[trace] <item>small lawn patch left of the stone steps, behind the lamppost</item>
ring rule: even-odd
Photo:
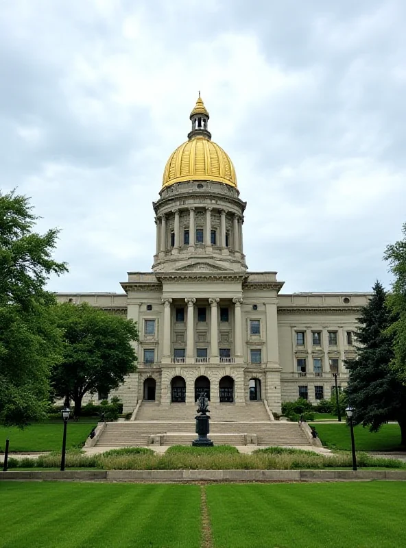
[[[84,442],[96,423],[71,422],[67,427],[67,448]],[[63,423],[39,423],[20,429],[0,427],[0,450],[4,451],[6,438],[10,451],[58,451],[62,447]]]

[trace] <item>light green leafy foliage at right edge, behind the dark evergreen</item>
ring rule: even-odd
[[[388,296],[387,304],[396,314],[396,321],[391,327],[394,337],[394,358],[392,366],[401,382],[406,385],[406,223],[403,225],[403,240],[388,245],[385,251],[385,260],[390,264],[390,271],[394,275],[392,292]]]

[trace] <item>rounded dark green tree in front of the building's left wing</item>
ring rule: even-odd
[[[74,401],[78,417],[86,393],[114,390],[135,370],[132,341],[138,340],[138,330],[132,320],[87,303],[60,304],[56,318],[64,351],[62,362],[53,369],[53,390],[57,397]]]

